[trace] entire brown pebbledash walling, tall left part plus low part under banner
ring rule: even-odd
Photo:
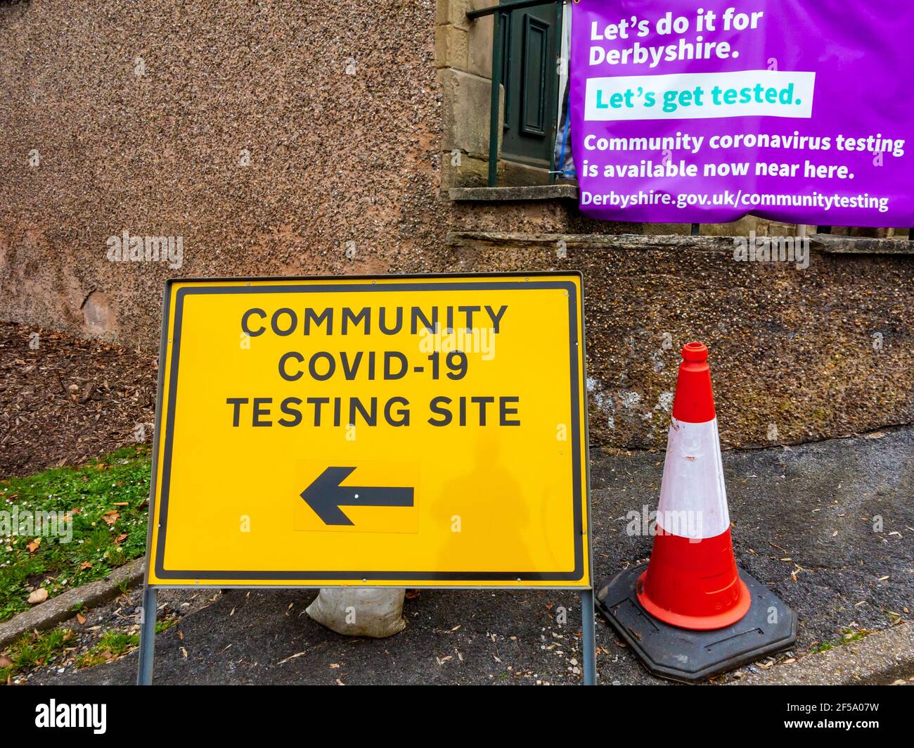
[[[664,445],[694,338],[726,445],[914,420],[904,242],[798,270],[622,238],[687,227],[567,199],[452,199],[484,184],[488,40],[464,11],[488,4],[0,2],[0,318],[152,348],[169,276],[572,268],[595,445]],[[749,228],[795,230],[705,231]],[[171,238],[171,262],[110,261],[125,232]]]

